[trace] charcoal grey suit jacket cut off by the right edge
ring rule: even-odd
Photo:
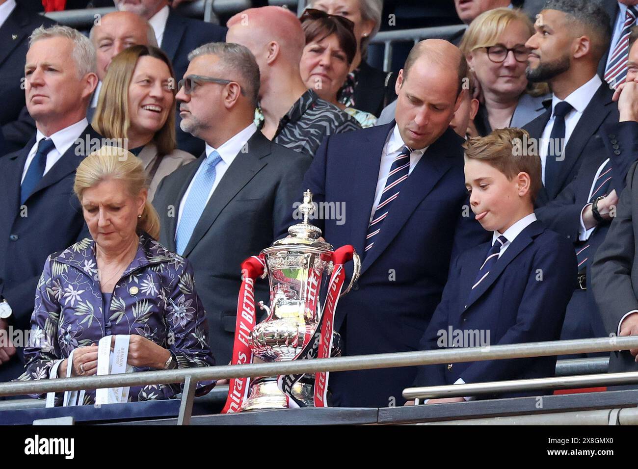
[[[618,333],[621,318],[638,309],[638,163],[627,174],[616,218],[611,223],[591,265],[591,283],[600,315],[608,334]],[[628,352],[611,352],[609,372],[638,371],[638,364]],[[635,385],[632,385],[635,387]]]

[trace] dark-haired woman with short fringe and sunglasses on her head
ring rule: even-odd
[[[299,63],[301,79],[322,100],[352,115],[363,128],[375,125],[375,115],[346,107],[338,100],[357,50],[352,21],[311,8],[304,11],[300,20],[306,36]]]

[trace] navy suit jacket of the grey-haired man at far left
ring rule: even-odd
[[[101,137],[87,126],[80,138]],[[86,156],[84,144],[71,145],[27,198],[26,208],[20,208],[20,179],[34,143],[35,137],[24,149],[0,158],[0,295],[13,309],[14,327],[22,330],[30,329],[36,286],[47,256],[88,234],[73,193],[75,169]]]

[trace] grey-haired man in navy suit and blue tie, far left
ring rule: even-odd
[[[29,329],[45,259],[83,237],[73,180],[82,158],[100,142],[85,118],[98,82],[95,68],[91,42],[75,29],[33,32],[25,94],[38,131],[24,149],[0,158],[0,301],[12,310],[0,320],[2,329]],[[21,355],[19,348],[0,365],[0,381],[22,373]]]

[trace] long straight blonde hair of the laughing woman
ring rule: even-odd
[[[128,110],[128,89],[131,86],[133,72],[140,57],[149,56],[163,61],[171,77],[175,77],[173,67],[166,54],[152,45],[134,45],[128,47],[108,66],[104,77],[98,106],[93,117],[93,128],[106,138],[128,138],[131,117]],[[175,96],[175,89],[173,90]],[[172,153],[175,144],[175,103],[170,105],[168,117],[161,129],[156,131],[153,140],[161,156]]]

